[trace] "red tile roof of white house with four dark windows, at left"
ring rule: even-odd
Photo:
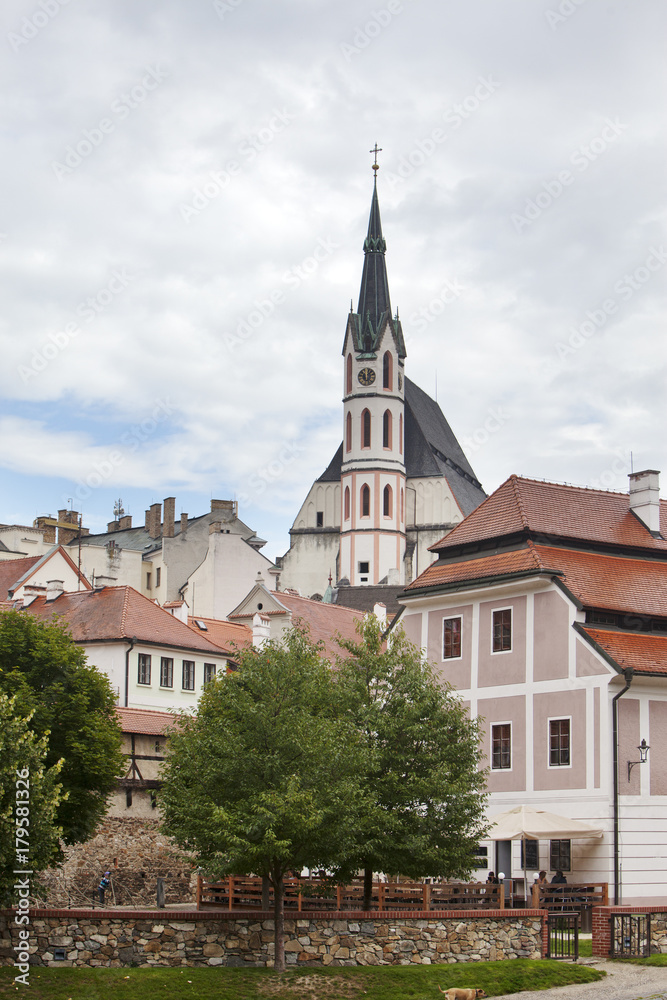
[[[100,590],[61,594],[53,601],[37,597],[26,612],[41,618],[62,617],[75,642],[103,642],[133,637],[139,642],[224,654],[201,632],[194,632],[154,604],[134,587],[102,587]]]

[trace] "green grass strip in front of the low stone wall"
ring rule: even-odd
[[[657,956],[660,957],[660,956]],[[662,956],[665,957],[665,956]],[[473,986],[489,996],[589,983],[603,973],[571,962],[469,962],[460,965],[385,965],[372,968],[296,969],[45,969],[30,972],[30,988],[0,969],[0,998],[30,1000],[431,1000],[450,986]]]

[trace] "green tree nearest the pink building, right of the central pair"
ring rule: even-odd
[[[347,873],[364,870],[364,907],[373,872],[411,878],[468,877],[486,830],[479,726],[439,681],[402,629],[388,642],[378,619],[357,625],[359,641],[339,639],[341,711],[362,734],[370,803],[356,827]],[[342,872],[341,872],[342,874]]]

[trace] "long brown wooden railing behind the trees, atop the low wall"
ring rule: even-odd
[[[332,885],[320,879],[285,879],[285,907],[304,910],[361,910],[362,881]],[[217,882],[197,879],[197,909],[214,906],[225,910],[262,910],[262,880],[230,876]],[[270,907],[273,890],[270,890]],[[446,910],[504,909],[505,888],[486,882],[374,882],[371,909]]]

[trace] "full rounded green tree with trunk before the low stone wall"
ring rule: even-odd
[[[243,650],[172,730],[162,771],[164,829],[212,878],[260,875],[274,891],[275,968],[285,966],[284,878],[342,863],[361,811],[363,748],[334,714],[321,649],[299,629]]]

